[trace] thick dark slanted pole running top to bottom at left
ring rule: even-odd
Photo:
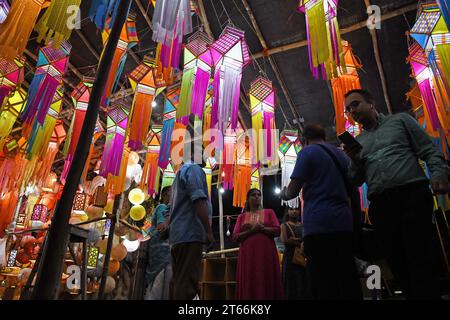
[[[111,30],[102,59],[100,60],[97,78],[95,79],[92,94],[89,99],[86,118],[80,134],[72,165],[67,176],[61,199],[57,204],[53,221],[49,230],[47,252],[43,256],[42,264],[45,268],[36,282],[36,299],[56,299],[60,284],[60,278],[64,266],[64,254],[67,247],[67,235],[69,233],[69,219],[72,211],[73,199],[78,188],[84,164],[87,160],[91,141],[97,122],[100,101],[105,89],[106,80],[110,71],[115,49],[119,42],[122,27],[127,19],[128,8],[131,0],[120,0],[117,17]]]

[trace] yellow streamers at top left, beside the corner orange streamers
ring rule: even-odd
[[[71,8],[80,10],[81,0],[52,1],[42,18],[36,24],[35,30],[39,33],[38,42],[42,40],[48,44],[51,40],[54,48],[60,48],[64,40],[69,40],[72,30],[69,22],[72,21]],[[79,11],[77,11],[79,13]],[[76,19],[78,18],[76,15]],[[76,25],[76,21],[74,21]]]

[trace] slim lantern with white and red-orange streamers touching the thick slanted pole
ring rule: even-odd
[[[70,123],[69,132],[67,133],[67,139],[64,145],[66,162],[64,164],[64,170],[61,174],[61,181],[63,182],[69,173],[70,165],[78,145],[78,139],[81,134],[84,117],[86,116],[86,110],[88,107],[89,98],[91,96],[92,85],[93,79],[84,78],[84,80],[78,84],[71,94],[72,101],[75,105],[75,112],[73,113],[72,122]]]

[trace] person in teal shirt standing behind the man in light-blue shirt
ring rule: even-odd
[[[146,300],[167,300],[169,298],[169,283],[172,278],[170,246],[167,239],[160,237],[160,230],[164,228],[167,220],[165,212],[168,209],[171,194],[171,186],[161,190],[161,203],[156,206],[151,218],[150,233],[152,237],[148,246]]]

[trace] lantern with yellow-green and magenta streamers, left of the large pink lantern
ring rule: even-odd
[[[177,109],[177,119],[184,124],[189,122],[191,113],[202,119],[211,68],[214,64],[209,48],[212,42],[207,34],[198,31],[188,39],[184,48],[183,80],[180,105]]]

